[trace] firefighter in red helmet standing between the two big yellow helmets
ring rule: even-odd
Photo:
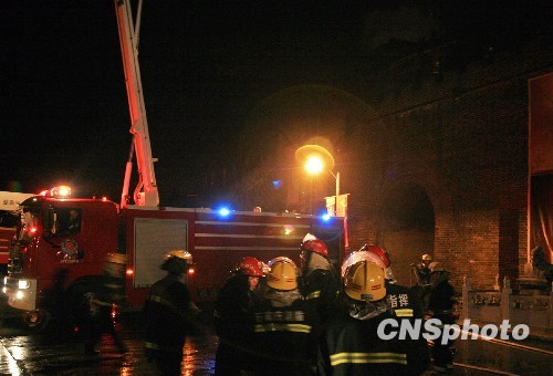
[[[340,281],[328,261],[325,242],[309,236],[300,246],[301,292],[325,322],[336,307]]]

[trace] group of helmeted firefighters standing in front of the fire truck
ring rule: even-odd
[[[373,244],[352,252],[337,271],[326,243],[306,234],[299,260],[237,260],[213,310],[216,375],[452,373],[451,342],[379,335],[386,320],[455,323],[449,272],[430,254],[411,264],[415,286],[398,284],[389,253]],[[167,275],[146,300],[146,355],[163,375],[181,374],[186,337],[202,333],[187,288],[192,264],[185,250],[167,253],[160,267]]]

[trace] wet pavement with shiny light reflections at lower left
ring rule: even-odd
[[[0,375],[157,375],[145,357],[138,321],[117,324],[128,351],[121,354],[109,335],[104,335],[98,355],[85,355],[77,333],[25,334],[22,328],[0,340]],[[3,334],[2,333],[2,334]],[[206,334],[188,338],[182,375],[212,375],[217,337]]]

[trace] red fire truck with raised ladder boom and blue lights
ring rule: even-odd
[[[242,257],[267,262],[285,255],[298,261],[298,247],[306,233],[327,242],[331,259],[340,262],[346,241],[342,217],[159,206],[137,30],[129,1],[114,2],[134,150],[126,164],[121,203],[106,198],[73,198],[67,186],[21,202],[21,222],[10,248],[3,292],[9,305],[21,310],[25,325],[41,331],[52,316],[65,313],[62,303],[90,304],[97,294],[107,253],[126,255],[127,310],[142,309],[149,286],[165,275],[159,269],[163,255],[175,249],[192,253],[196,265],[189,270],[188,285],[197,304],[207,310]],[[133,155],[138,185],[131,198]]]

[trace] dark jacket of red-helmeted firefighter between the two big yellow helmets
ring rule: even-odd
[[[338,280],[331,270],[315,269],[302,278],[302,294],[316,307],[323,322],[326,322],[337,307],[338,289]]]

